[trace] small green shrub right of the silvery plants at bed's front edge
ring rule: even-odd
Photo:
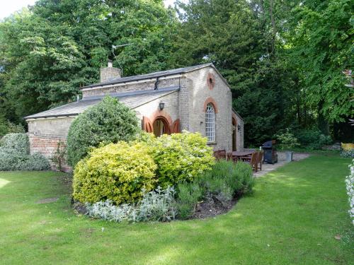
[[[204,196],[205,190],[195,182],[183,182],[178,184],[178,216],[181,219],[189,218],[195,211],[198,201]]]

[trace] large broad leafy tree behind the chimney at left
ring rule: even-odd
[[[162,1],[39,0],[0,23],[1,90],[21,118],[65,104],[98,81],[111,45],[127,42],[115,51],[124,72],[164,69],[173,23]]]

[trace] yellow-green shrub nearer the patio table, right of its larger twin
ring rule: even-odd
[[[152,155],[157,165],[156,176],[163,188],[195,177],[210,170],[215,163],[212,148],[200,133],[164,134],[158,138],[145,136],[152,146]]]

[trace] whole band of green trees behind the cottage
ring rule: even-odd
[[[353,89],[342,72],[353,69],[353,7],[350,0],[190,0],[174,8],[161,0],[39,0],[0,23],[0,121],[23,122],[74,100],[107,59],[124,76],[212,62],[232,88],[247,145],[286,128],[350,141]]]

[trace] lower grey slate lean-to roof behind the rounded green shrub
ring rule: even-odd
[[[120,102],[124,103],[127,107],[134,109],[140,105],[144,105],[147,102],[161,98],[164,95],[173,93],[179,90],[178,86],[171,88],[159,88],[159,90],[139,90],[132,91],[130,93],[115,93],[110,94],[115,98],[119,98]],[[102,100],[104,96],[96,96],[87,99],[80,100],[78,102],[72,102],[67,105],[62,105],[55,107],[51,110],[46,110],[37,114],[33,114],[25,117],[25,119],[38,119],[38,118],[49,118],[49,117],[64,117],[64,116],[74,116],[84,112],[88,107],[96,105]]]

